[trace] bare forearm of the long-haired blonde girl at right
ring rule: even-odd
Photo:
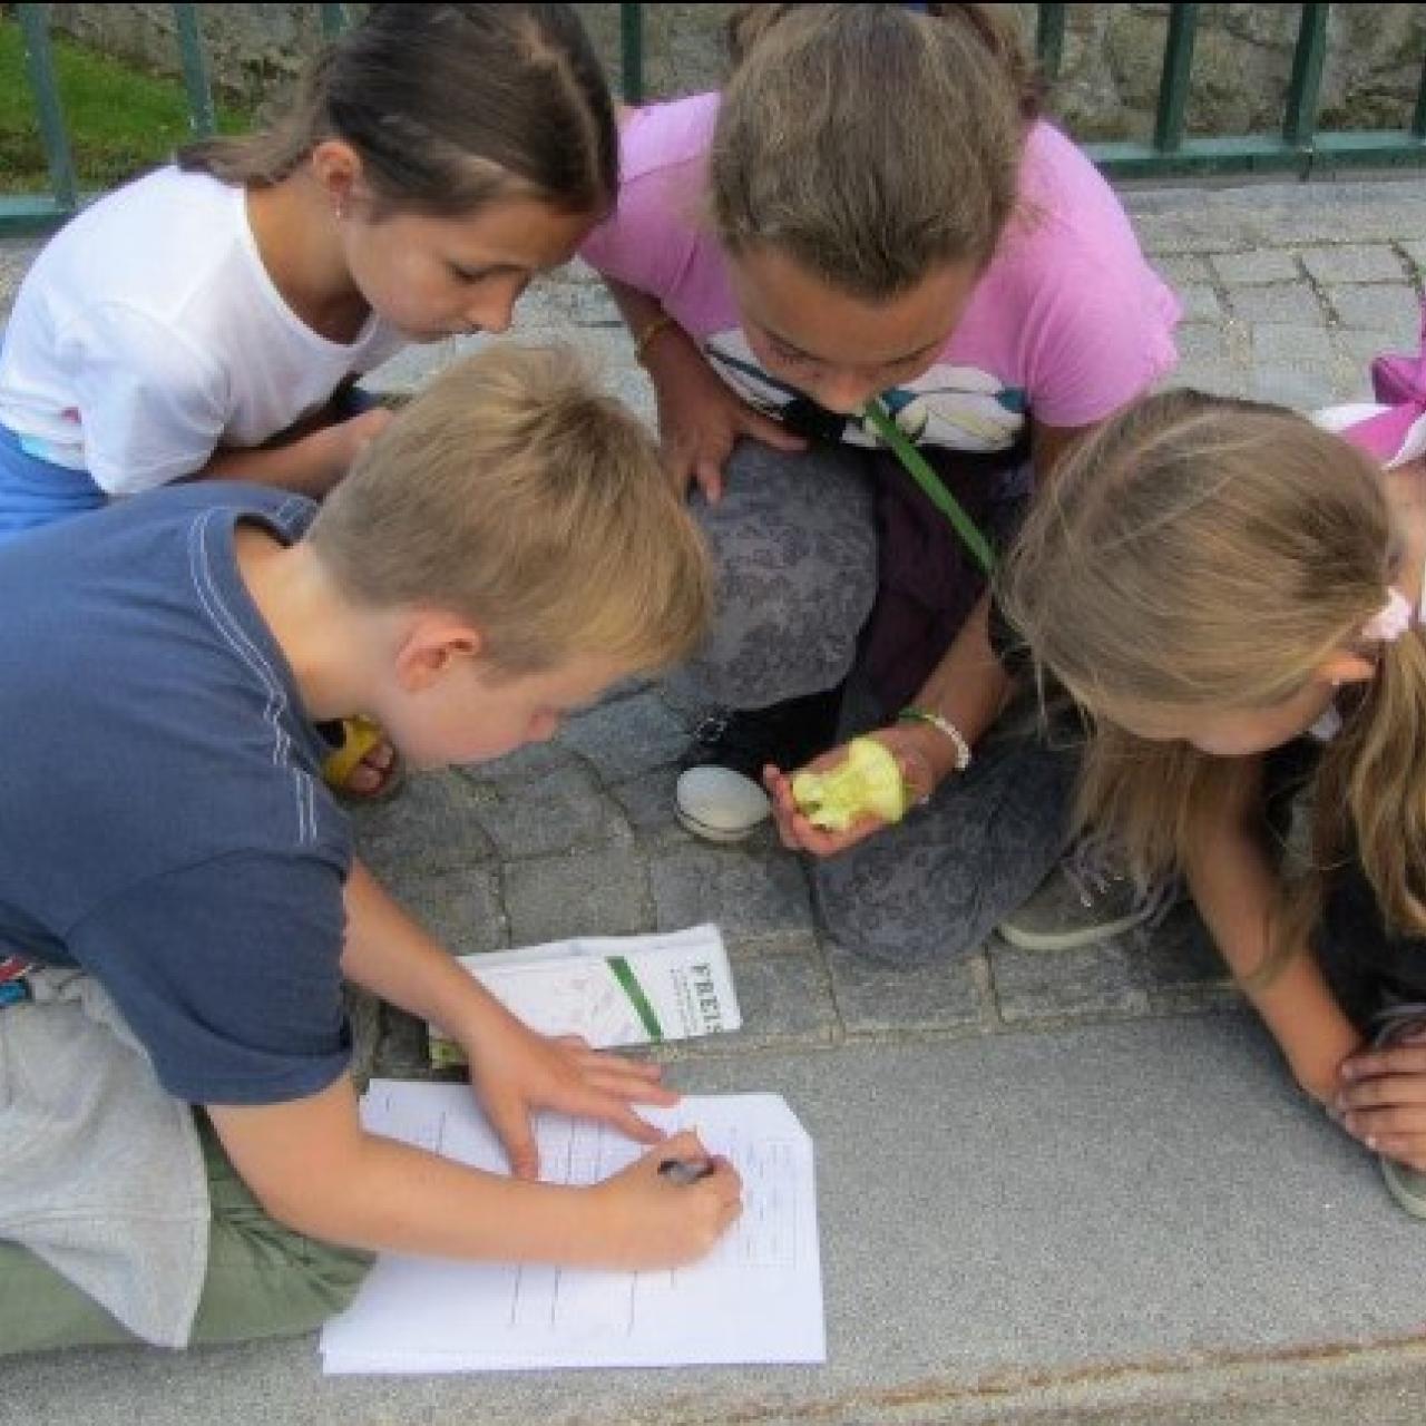
[[[1194,838],[1188,883],[1224,960],[1308,1094],[1329,1099],[1338,1088],[1338,1067],[1360,1035],[1328,988],[1316,957],[1305,945],[1275,973],[1259,974],[1271,943],[1271,914],[1278,877],[1255,829],[1261,806],[1258,763],[1239,784],[1232,803]]]

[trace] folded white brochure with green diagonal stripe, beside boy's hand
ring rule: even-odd
[[[600,1050],[714,1035],[743,1024],[716,925],[579,937],[459,960],[532,1028],[583,1035]],[[465,1064],[461,1047],[434,1025],[429,1040],[432,1064]]]

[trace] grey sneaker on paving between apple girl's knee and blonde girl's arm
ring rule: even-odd
[[[1158,924],[1181,896],[1178,878],[1142,888],[1108,853],[1108,838],[1081,837],[995,928],[1001,938],[1024,951],[1072,951]]]

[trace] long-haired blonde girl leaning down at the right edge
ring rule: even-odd
[[[1415,372],[1415,392],[1379,382],[1392,405],[1348,441],[1271,406],[1144,401],[1067,458],[1001,593],[1088,712],[1079,817],[1141,876],[1185,871],[1299,1084],[1426,1216]],[[1303,784],[1310,850],[1288,840]]]

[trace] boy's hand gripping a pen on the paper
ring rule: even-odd
[[[713,1172],[696,1184],[676,1184],[659,1172],[670,1158],[707,1159]],[[609,1265],[629,1271],[697,1261],[743,1211],[737,1169],[710,1155],[692,1131],[665,1139],[589,1192],[597,1198],[593,1231],[609,1248]]]

